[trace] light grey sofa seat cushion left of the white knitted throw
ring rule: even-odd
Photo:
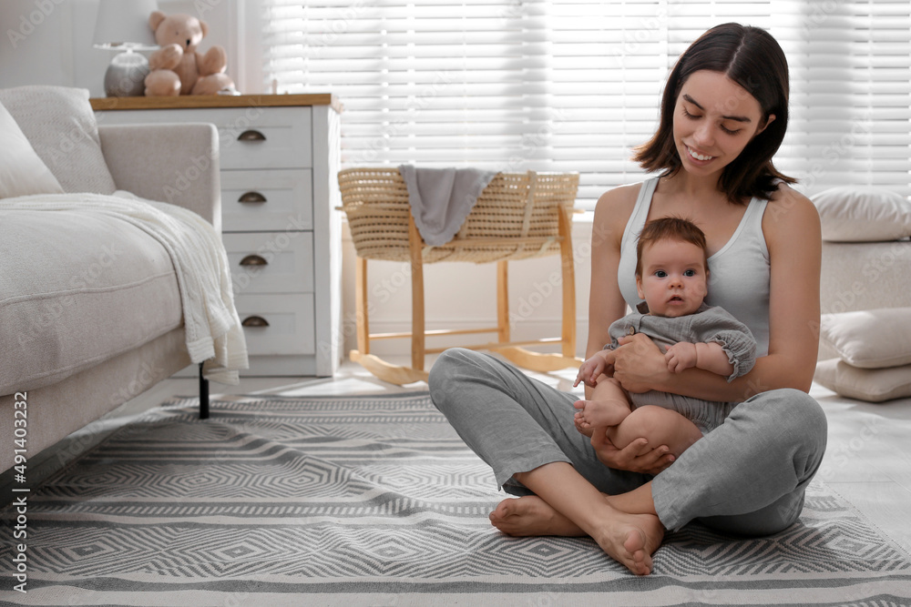
[[[0,394],[37,389],[182,324],[168,252],[100,214],[0,210]]]

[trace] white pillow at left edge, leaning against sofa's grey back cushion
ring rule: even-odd
[[[0,105],[0,198],[61,194],[63,188],[35,153],[13,116]]]

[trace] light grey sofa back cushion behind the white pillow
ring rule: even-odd
[[[0,104],[15,118],[65,192],[114,193],[114,178],[101,153],[87,89],[5,88],[0,89]]]

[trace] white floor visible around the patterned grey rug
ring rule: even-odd
[[[428,359],[429,364],[432,361]],[[575,369],[535,374],[558,389],[571,390]],[[282,394],[287,396],[371,394],[424,391],[426,384],[393,386],[375,379],[359,365],[345,362],[332,379],[245,378],[236,387],[210,384],[220,394]],[[577,391],[580,391],[577,389]],[[126,423],[172,396],[197,396],[196,379],[167,379],[135,400],[77,433],[46,455],[48,469],[78,455],[100,440],[105,430]],[[811,395],[829,420],[829,446],[820,478],[854,504],[885,535],[911,552],[911,399],[866,403],[839,397],[814,384]],[[30,468],[30,470],[32,470]],[[2,483],[0,483],[2,484]]]

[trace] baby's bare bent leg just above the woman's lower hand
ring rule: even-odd
[[[702,432],[677,411],[650,405],[637,408],[619,425],[608,429],[608,438],[618,449],[642,437],[652,447],[667,445],[674,457],[680,457],[702,438]]]

